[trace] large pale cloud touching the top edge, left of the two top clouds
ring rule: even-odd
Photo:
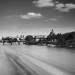
[[[53,7],[54,6],[54,2],[53,0],[37,0],[37,1],[33,1],[33,3],[38,6],[38,7]]]

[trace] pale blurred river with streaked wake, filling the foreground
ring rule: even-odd
[[[17,69],[14,75],[75,75],[74,49],[13,43],[1,45],[0,50],[13,70]]]

